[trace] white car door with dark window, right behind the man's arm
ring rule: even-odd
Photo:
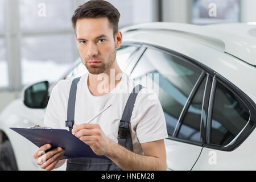
[[[184,57],[155,47],[144,51],[130,76],[154,90],[163,107],[168,169],[191,170],[205,140],[202,108],[211,76]]]

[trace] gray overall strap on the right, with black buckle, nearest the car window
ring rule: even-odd
[[[136,85],[126,102],[125,109],[123,110],[122,119],[119,123],[118,130],[118,144],[126,147],[130,151],[133,151],[133,141],[131,139],[131,133],[129,130],[129,123],[131,119],[131,113],[133,112],[134,103],[139,91],[144,88],[142,85]]]

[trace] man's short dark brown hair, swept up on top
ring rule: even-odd
[[[72,16],[73,29],[76,31],[76,22],[78,19],[102,17],[108,18],[115,35],[118,31],[120,13],[111,3],[103,0],[88,1],[84,5],[79,6]]]

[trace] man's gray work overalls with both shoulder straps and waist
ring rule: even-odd
[[[68,114],[65,126],[69,127],[69,131],[73,129],[74,117],[75,117],[75,103],[76,103],[76,88],[77,83],[81,77],[75,78],[72,81],[69,98],[68,98]],[[142,85],[136,85],[133,92],[126,102],[125,110],[123,111],[122,119],[119,122],[118,130],[118,144],[133,151],[133,141],[131,140],[131,134],[129,130],[129,123],[131,113],[133,111],[134,102],[138,92],[144,88]],[[67,171],[121,171],[112,160],[110,159],[98,159],[98,158],[72,158],[68,159]]]

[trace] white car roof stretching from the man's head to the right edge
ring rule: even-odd
[[[256,23],[197,26],[185,23],[152,22],[125,27],[121,29],[121,32],[136,30],[164,30],[179,33],[181,36],[196,37],[207,46],[228,53],[256,67]]]

